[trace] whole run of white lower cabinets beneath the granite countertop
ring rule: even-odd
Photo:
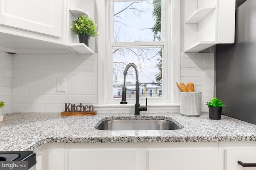
[[[256,170],[256,142],[49,143],[37,170]]]

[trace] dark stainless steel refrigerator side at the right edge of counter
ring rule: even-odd
[[[216,45],[216,96],[222,114],[256,124],[256,0],[236,9],[235,43]]]

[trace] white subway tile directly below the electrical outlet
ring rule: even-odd
[[[70,103],[71,96],[67,95],[40,95],[36,96],[36,103],[41,104],[64,104]]]

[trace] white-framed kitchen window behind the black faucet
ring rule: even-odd
[[[173,27],[173,9],[180,8],[180,1],[106,0],[105,2],[106,4],[102,6],[105,12],[100,19],[105,26],[105,29],[102,28],[102,33],[105,31],[106,34],[104,34],[105,37],[102,37],[103,42],[98,40],[99,81],[104,80],[105,85],[99,83],[98,92],[104,92],[104,98],[98,95],[99,104],[120,104],[121,96],[119,93],[116,96],[114,91],[119,87],[122,88],[123,72],[128,63],[134,63],[138,68],[140,98],[152,96],[148,101],[151,104],[172,103],[174,98],[171,85],[174,78],[172,75],[178,64],[174,65],[173,63],[175,53],[172,47],[174,45],[172,33],[174,30],[171,27]],[[99,4],[100,0],[98,0]],[[160,4],[160,9],[156,10],[156,7],[159,7],[156,4]],[[159,18],[154,15],[154,10],[161,13],[161,20],[157,21],[161,29],[156,32],[152,28]],[[176,20],[180,24],[179,10],[177,16]],[[100,23],[98,24],[99,28]],[[176,35],[178,37],[176,53],[179,54],[179,32]],[[106,46],[104,40],[107,42]],[[104,49],[99,48],[100,44],[102,47],[106,47],[107,55],[104,54]],[[102,70],[102,61],[106,63],[104,70]],[[130,68],[126,76],[126,86],[132,90],[134,82],[135,71]],[[104,87],[104,90],[101,87]],[[154,92],[149,93],[150,87]],[[134,95],[130,96],[131,98],[127,98],[128,104],[133,104],[135,102]],[[140,103],[143,103],[141,101],[144,100],[140,99]]]

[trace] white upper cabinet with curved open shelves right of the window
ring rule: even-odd
[[[234,43],[236,0],[184,0],[184,52]]]

